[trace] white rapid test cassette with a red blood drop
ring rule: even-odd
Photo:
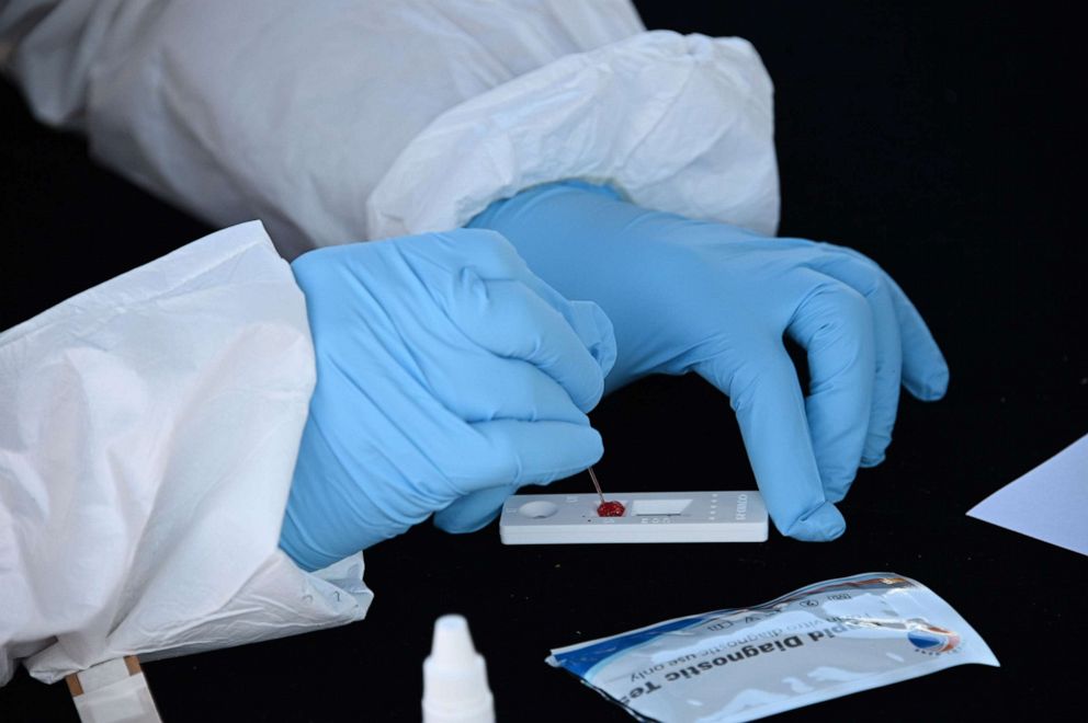
[[[499,519],[503,544],[763,542],[767,507],[755,491],[614,492],[619,517],[597,513],[594,494],[519,494]]]

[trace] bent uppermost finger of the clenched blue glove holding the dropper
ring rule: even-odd
[[[539,294],[521,282],[485,280],[473,268],[461,271],[454,294],[449,313],[472,342],[500,357],[532,364],[582,411],[601,400],[601,366],[563,314]],[[598,343],[614,348],[611,334],[611,324],[600,328]]]

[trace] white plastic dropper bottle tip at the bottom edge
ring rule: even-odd
[[[423,723],[494,723],[484,656],[473,647],[468,621],[444,615],[434,621],[431,654],[423,661]]]

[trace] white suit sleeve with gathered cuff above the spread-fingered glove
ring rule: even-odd
[[[262,219],[288,257],[565,177],[778,222],[755,50],[646,33],[627,0],[12,0],[0,37],[39,117],[212,223]]]

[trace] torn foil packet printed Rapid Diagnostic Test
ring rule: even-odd
[[[999,665],[948,602],[894,573],[560,647],[547,662],[635,718],[670,723],[750,721],[954,665]]]

